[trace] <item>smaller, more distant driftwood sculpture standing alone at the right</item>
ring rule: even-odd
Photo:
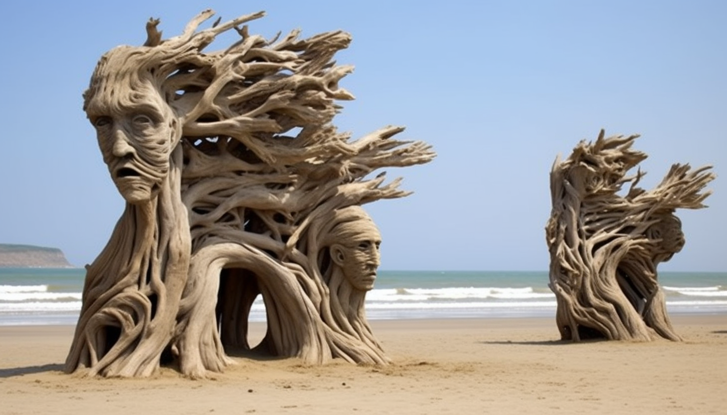
[[[674,164],[653,190],[627,172],[646,158],[638,135],[582,141],[550,173],[547,222],[550,288],[562,339],[680,340],[667,315],[656,267],[684,245],[675,209],[699,209],[715,178],[711,166]],[[630,183],[625,195],[622,185]]]

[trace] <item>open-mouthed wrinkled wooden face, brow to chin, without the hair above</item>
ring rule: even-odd
[[[86,113],[121,196],[130,204],[155,197],[169,173],[178,135],[177,120],[158,92],[145,84],[136,89],[116,84],[100,89]]]

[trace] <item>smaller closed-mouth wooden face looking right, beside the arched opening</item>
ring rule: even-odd
[[[364,209],[349,206],[338,212],[341,222],[331,231],[331,260],[338,265],[346,281],[359,291],[374,288],[381,264],[381,234]],[[338,219],[337,218],[337,219]]]

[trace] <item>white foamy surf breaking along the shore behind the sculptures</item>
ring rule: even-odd
[[[677,313],[727,313],[727,286],[715,282],[710,286],[706,286],[710,283],[705,286],[683,283],[684,286],[680,286],[682,283],[676,282],[662,287],[667,294],[667,307],[670,312]],[[411,286],[416,283],[411,281]],[[545,285],[500,288],[471,287],[467,284],[464,282],[462,286],[446,288],[377,288],[366,294],[367,315],[370,319],[390,319],[550,316],[555,313],[555,294]],[[407,285],[408,282],[402,284]],[[0,325],[49,321],[74,323],[69,316],[80,313],[81,293],[57,292],[54,287],[38,283],[0,285]],[[80,291],[81,287],[73,289]],[[257,297],[248,318],[250,321],[265,321],[262,297]]]

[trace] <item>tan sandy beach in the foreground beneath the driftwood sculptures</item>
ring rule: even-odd
[[[196,381],[66,375],[72,327],[4,326],[0,414],[727,414],[727,315],[672,322],[685,342],[559,342],[550,318],[372,321],[391,366],[236,358]]]

